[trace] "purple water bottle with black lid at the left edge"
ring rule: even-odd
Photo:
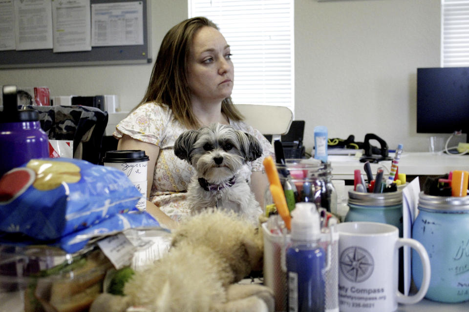
[[[49,157],[49,140],[41,129],[39,114],[18,110],[16,86],[3,86],[0,113],[0,177],[32,158]]]

